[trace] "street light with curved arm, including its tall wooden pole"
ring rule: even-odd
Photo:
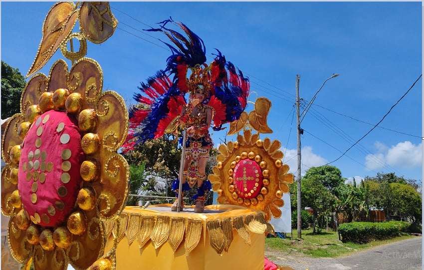
[[[308,112],[309,108],[311,107],[312,103],[315,100],[315,97],[317,96],[318,92],[321,90],[321,88],[324,86],[324,84],[334,77],[339,76],[338,73],[333,74],[331,77],[327,78],[321,85],[321,87],[318,89],[318,91],[315,93],[315,95],[312,97],[311,101],[306,105],[305,109],[300,113],[300,98],[299,98],[299,81],[300,81],[300,75],[296,75],[296,115],[297,115],[297,238],[302,238],[302,202],[301,202],[301,191],[300,191],[300,178],[301,178],[301,144],[300,144],[300,135],[303,134],[303,129],[300,128],[300,123],[302,122],[303,118],[305,118],[306,113]],[[302,116],[302,119],[300,119],[300,116]]]

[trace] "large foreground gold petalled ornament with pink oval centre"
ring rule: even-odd
[[[60,35],[54,40],[43,35],[28,74],[70,38],[87,39],[83,26],[81,33],[70,34],[76,20],[71,18],[87,6],[104,10],[91,12],[91,22],[100,19],[97,15],[112,16],[104,2],[83,2],[80,9],[69,2],[54,4],[43,31],[58,27]],[[80,20],[90,19],[82,13]],[[64,14],[68,19],[62,21]],[[44,52],[47,58],[41,59]],[[1,213],[10,217],[8,245],[17,262],[33,263],[36,270],[65,270],[68,264],[78,270],[115,269],[114,250],[104,255],[103,222],[118,218],[128,195],[129,167],[117,153],[128,133],[128,111],[119,94],[102,91],[103,72],[95,60],[82,57],[85,52],[77,58],[63,54],[76,62],[68,70],[57,60],[48,76],[29,79],[20,113],[10,118],[1,139],[6,163]]]

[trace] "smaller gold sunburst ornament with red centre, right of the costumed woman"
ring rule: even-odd
[[[247,121],[259,132],[271,133],[266,124],[266,116],[271,102],[260,97],[255,102],[255,110],[247,117],[231,123],[230,132],[238,134],[237,140],[218,147],[217,165],[209,176],[213,191],[217,192],[219,204],[241,205],[265,212],[265,220],[281,217],[284,205],[283,193],[289,192],[288,184],[293,183],[294,175],[289,166],[283,164],[283,152],[278,140],[260,139],[259,133],[252,134],[246,127]]]

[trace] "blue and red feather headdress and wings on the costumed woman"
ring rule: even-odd
[[[178,25],[188,36],[165,27],[168,23]],[[142,93],[134,94],[137,105],[129,111],[129,133],[123,145],[124,152],[149,139],[161,137],[174,124],[187,104],[186,93],[193,94],[197,85],[204,87],[207,98],[204,103],[214,110],[212,128],[220,130],[227,122],[237,120],[247,104],[249,80],[242,72],[235,71],[232,63],[217,50],[211,64],[206,63],[203,40],[184,23],[172,18],[159,22],[160,28],[147,31],[165,33],[176,47],[164,42],[172,51],[165,70],[148,78],[138,87]],[[163,42],[163,41],[162,41]],[[191,74],[188,77],[188,70]],[[172,80],[171,80],[172,77]],[[175,129],[173,129],[175,130]]]

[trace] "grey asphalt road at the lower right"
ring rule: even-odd
[[[265,257],[269,255],[265,252]],[[273,254],[270,260],[279,266],[291,267],[294,270],[421,270],[422,237],[338,258],[309,258]]]

